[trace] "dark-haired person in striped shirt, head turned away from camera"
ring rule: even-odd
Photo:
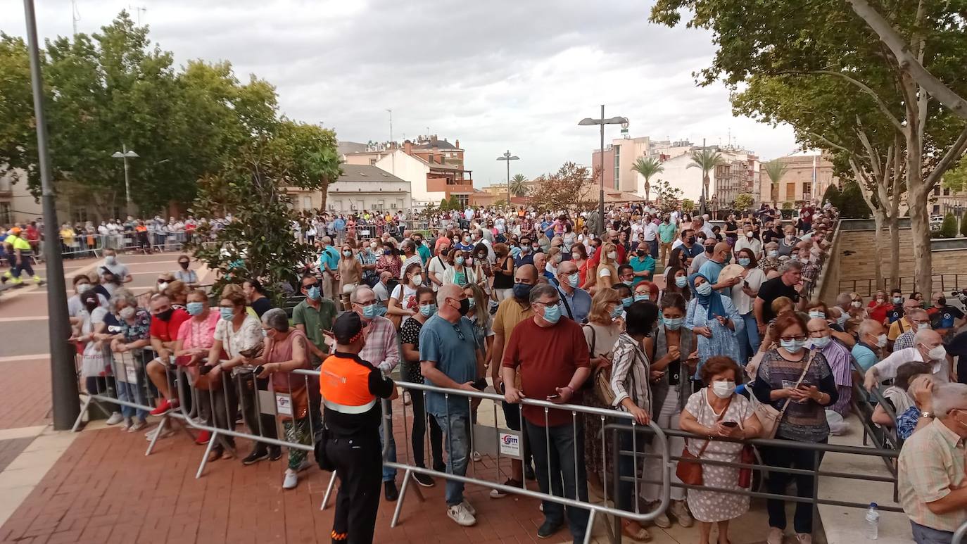
[[[655,329],[659,307],[653,302],[635,302],[628,308],[627,327],[614,345],[611,359],[611,390],[614,391],[614,405],[623,412],[634,416],[639,425],[647,425],[652,419],[650,410],[654,406],[651,391],[651,361],[645,352],[645,338]],[[627,419],[623,419],[625,423]],[[619,434],[623,450],[644,451],[644,440],[632,438],[632,433]],[[637,446],[637,447],[635,447]],[[632,476],[641,467],[636,456],[622,455],[618,459],[618,471],[624,476]],[[637,486],[633,481],[621,479],[618,482],[617,505],[622,510],[634,511]],[[637,522],[625,521],[622,532],[639,542],[651,540],[648,530]]]

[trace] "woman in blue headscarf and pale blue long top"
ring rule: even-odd
[[[744,323],[732,300],[713,290],[709,278],[700,273],[691,274],[689,284],[695,298],[689,301],[685,327],[698,337],[699,370],[711,357],[738,360],[741,357],[738,333],[742,332]]]

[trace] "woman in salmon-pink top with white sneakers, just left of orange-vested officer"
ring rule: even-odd
[[[398,258],[398,257],[397,257]],[[265,348],[254,362],[262,367],[257,378],[272,378],[276,395],[288,394],[291,399],[291,414],[279,415],[285,429],[285,440],[290,443],[311,444],[308,421],[308,387],[302,376],[293,376],[291,371],[310,368],[306,334],[289,327],[285,310],[272,308],[262,316],[262,330],[265,334]],[[299,472],[308,469],[306,451],[293,447],[289,449],[289,466],[285,470],[282,489],[293,489],[299,484]]]

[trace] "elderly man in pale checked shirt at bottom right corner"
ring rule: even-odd
[[[918,544],[950,542],[967,521],[964,439],[967,438],[967,386],[934,387],[933,418],[903,444],[898,464],[899,501]]]

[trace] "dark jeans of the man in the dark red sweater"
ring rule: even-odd
[[[568,423],[556,427],[542,427],[530,421],[526,423],[527,440],[534,455],[534,468],[541,493],[587,501],[588,476],[584,466],[584,429],[581,418],[574,425]],[[562,479],[564,489],[561,485]],[[542,502],[544,520],[554,525],[563,524],[564,505],[552,501]],[[568,506],[567,513],[574,542],[583,541],[584,533],[588,529],[588,510]]]

